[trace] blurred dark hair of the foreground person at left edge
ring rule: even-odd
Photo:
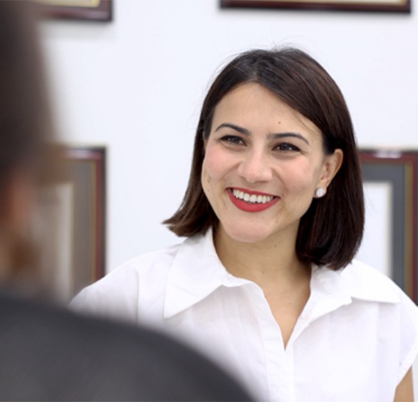
[[[23,165],[41,171],[51,135],[36,6],[31,1],[0,1],[0,54],[1,186]]]

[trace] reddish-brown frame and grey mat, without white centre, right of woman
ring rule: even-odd
[[[366,182],[392,187],[392,279],[417,302],[418,151],[362,150],[360,158]]]

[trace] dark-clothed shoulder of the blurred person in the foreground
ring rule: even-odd
[[[3,294],[0,318],[1,400],[249,399],[219,368],[155,330]]]

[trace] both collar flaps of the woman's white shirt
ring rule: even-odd
[[[226,271],[216,254],[211,230],[203,236],[189,237],[179,246],[169,271],[164,318],[197,304],[219,287],[238,287],[249,283],[252,282]],[[314,265],[310,281],[310,307],[304,311],[312,319],[350,304],[352,299],[399,303],[396,288],[384,274],[358,261],[353,261],[341,271]]]

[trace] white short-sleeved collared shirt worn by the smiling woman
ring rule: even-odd
[[[418,308],[360,262],[313,267],[291,338],[260,287],[223,267],[209,231],[144,254],[83,289],[75,309],[166,329],[229,369],[258,400],[393,401],[418,353]]]

